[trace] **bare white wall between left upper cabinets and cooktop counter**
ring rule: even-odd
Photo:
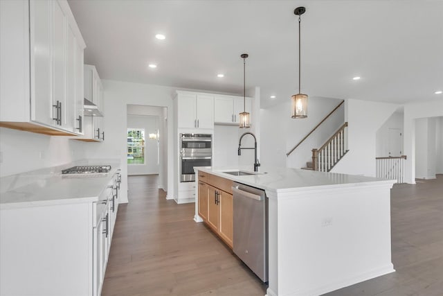
[[[93,143],[0,128],[0,177],[84,159]]]

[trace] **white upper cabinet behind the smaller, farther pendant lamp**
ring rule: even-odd
[[[246,98],[246,112],[251,113],[251,98]],[[239,123],[239,113],[244,111],[243,98],[238,96],[215,96],[215,124],[235,125]]]

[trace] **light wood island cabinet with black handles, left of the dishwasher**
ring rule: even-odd
[[[233,182],[199,171],[199,216],[229,247],[233,247]]]

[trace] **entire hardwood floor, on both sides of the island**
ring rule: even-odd
[[[264,295],[266,286],[202,223],[194,204],[165,200],[157,177],[128,178],[102,295]],[[392,189],[397,272],[327,296],[443,296],[443,175]]]

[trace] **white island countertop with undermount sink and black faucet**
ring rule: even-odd
[[[291,193],[297,191],[343,188],[351,186],[394,184],[393,180],[380,179],[376,177],[365,177],[361,175],[345,175],[339,173],[323,173],[318,171],[302,170],[298,168],[280,168],[260,166],[258,172],[251,170],[251,167],[210,167],[200,166],[196,171],[212,173],[219,177],[233,180],[242,184],[264,189],[267,192]],[[235,176],[223,172],[245,171],[254,175]]]

